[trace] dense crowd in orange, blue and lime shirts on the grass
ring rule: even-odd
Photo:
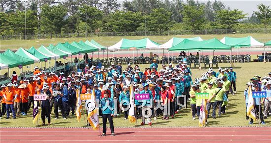
[[[190,102],[191,118],[195,120],[196,116],[199,117],[202,101],[196,98],[197,93],[209,94],[209,98],[206,99],[208,118],[210,112],[213,119],[217,117],[216,113],[218,113],[218,116],[225,114],[229,101],[228,95],[236,94],[237,75],[233,68],[223,69],[219,67],[218,72],[209,68],[199,78],[193,80],[192,72],[186,63],[186,61],[180,60],[174,66],[173,64],[162,64],[159,70],[155,60],[153,60],[150,67],[145,69],[141,69],[138,65],[132,67],[131,64],[128,64],[125,68],[120,64],[112,64],[110,67],[105,68],[104,66],[99,67],[86,63],[85,68],[81,70],[82,72],[71,72],[71,75],[66,77],[63,72],[52,71],[47,73],[35,67],[33,76],[29,79],[19,80],[15,77],[11,83],[1,85],[0,115],[2,118],[6,114],[7,119],[10,118],[10,114],[12,114],[13,119],[20,115],[25,116],[29,114],[31,108],[33,109],[34,94],[46,94],[46,100],[39,103],[39,106],[41,106],[42,110],[43,125],[45,125],[46,118],[48,118],[48,125],[50,125],[52,113],[55,115],[55,119],[59,118],[59,112],[63,119],[75,115],[76,90],[80,89],[82,94],[92,93],[94,90],[96,100],[100,103],[103,103],[107,98],[116,99],[117,105],[114,106],[117,106],[117,111],[115,116],[124,114],[124,119],[127,119],[128,112],[122,111],[119,103],[123,100],[129,101],[130,86],[134,87],[134,94],[149,94],[150,99],[147,100],[146,106],[153,106],[151,110],[154,114],[151,118],[145,119],[142,115],[142,108],[139,108],[142,103],[135,100],[136,117],[138,119],[142,118],[141,125],[147,123],[151,126],[151,119],[157,120],[159,116],[162,116],[164,120],[174,118],[175,114],[178,114],[182,108],[177,102],[181,104]],[[270,94],[270,77],[271,73],[269,73],[269,77],[265,77],[261,82],[260,77],[255,76],[252,78],[251,84],[248,83],[248,85],[253,83],[254,90],[267,91]],[[257,88],[257,85],[259,88]],[[247,96],[246,89],[246,101]],[[176,100],[177,98],[181,100]],[[157,100],[161,101],[162,105],[166,104],[165,101],[170,101],[169,113],[165,114],[160,108],[155,109],[158,106],[156,102],[150,104],[151,101]],[[270,100],[265,99],[258,103],[257,100],[255,101],[256,104],[265,103],[263,116],[267,117],[268,107],[271,107]],[[110,104],[114,103],[111,102]],[[122,106],[127,105],[124,103]],[[218,112],[216,111],[217,108]],[[111,114],[111,112],[99,109],[99,116],[103,117],[106,114]],[[109,116],[106,116],[106,118],[110,122]],[[112,116],[114,116],[113,113]],[[262,120],[263,117],[260,117]],[[262,123],[264,123],[263,120]]]

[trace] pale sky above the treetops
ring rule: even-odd
[[[125,0],[117,0],[119,3],[122,3]],[[127,0],[132,1],[132,0]],[[183,0],[186,1],[186,0]],[[195,0],[196,1],[196,0]],[[198,0],[201,2],[206,2],[208,0]],[[214,1],[214,0],[210,0]],[[227,7],[231,9],[239,9],[244,13],[247,13],[247,16],[251,16],[253,11],[257,11],[257,5],[263,3],[264,5],[269,5],[271,7],[271,0],[220,0],[225,3]]]

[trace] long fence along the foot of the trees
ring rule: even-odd
[[[180,30],[163,31],[162,36],[169,35],[205,35],[205,34],[244,34],[244,33],[271,33],[268,29],[212,29],[212,30]],[[134,32],[98,32],[98,33],[68,33],[68,34],[33,34],[33,35],[2,35],[0,40],[32,40],[50,38],[75,38],[75,37],[99,37],[99,36],[159,36],[160,31],[134,31]]]

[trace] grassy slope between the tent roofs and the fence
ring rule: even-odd
[[[245,36],[252,36],[256,40],[260,42],[267,42],[271,40],[271,34],[228,34],[228,35],[172,35],[172,36],[147,36],[151,40],[163,44],[167,42],[172,37],[182,37],[182,38],[189,38],[189,37],[195,37],[200,36],[203,39],[222,39],[224,36],[229,37],[245,37]],[[1,40],[0,41],[0,49],[18,49],[20,47],[23,48],[30,48],[31,46],[34,46],[35,48],[40,47],[41,45],[48,46],[49,44],[56,45],[58,42],[73,42],[73,41],[86,41],[94,39],[98,43],[100,43],[103,46],[111,46],[115,43],[117,43],[122,38],[127,39],[141,39],[145,38],[145,36],[110,36],[110,37],[93,37],[93,38],[58,38],[58,39],[35,39],[35,40]]]

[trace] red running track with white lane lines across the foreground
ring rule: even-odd
[[[102,128],[101,128],[102,134]],[[91,128],[0,128],[0,143],[271,143],[271,127],[115,128],[99,136]]]

